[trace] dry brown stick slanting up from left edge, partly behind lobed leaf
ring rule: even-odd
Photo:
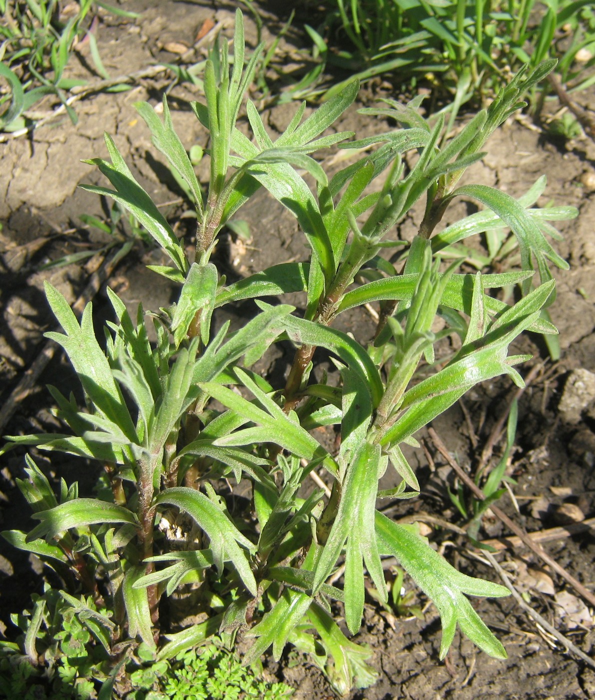
[[[125,244],[122,248],[118,250],[110,257],[108,260],[103,262],[103,265],[99,267],[96,272],[94,272],[87,282],[87,286],[83,290],[83,293],[78,297],[76,302],[73,304],[73,311],[77,316],[83,313],[83,309],[87,302],[92,300],[96,293],[101,288],[103,282],[108,279],[108,277],[113,273],[115,266],[120,260],[126,255],[130,250],[130,245]],[[20,382],[15,386],[13,391],[10,392],[10,396],[6,398],[3,406],[0,409],[0,432],[6,426],[6,423],[13,416],[13,413],[17,409],[17,405],[26,398],[29,393],[37,383],[37,380],[41,376],[45,367],[48,366],[50,360],[55,355],[58,345],[53,340],[48,340],[43,345],[42,349],[39,351],[38,356],[35,358],[34,362],[31,363],[29,369],[24,373]]]

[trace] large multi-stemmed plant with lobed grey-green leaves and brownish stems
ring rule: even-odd
[[[279,659],[291,643],[310,654],[338,692],[370,685],[375,680],[366,663],[371,652],[345,637],[332,605],[343,607],[347,628],[357,633],[364,566],[380,600],[387,601],[384,555],[395,556],[438,608],[440,657],[457,624],[482,650],[506,657],[466,596],[503,596],[508,589],[459,573],[415,527],[396,524],[376,510],[376,500],[415,497],[420,484],[403,455],[403,442],[416,444],[417,430],[480,381],[508,374],[522,386],[513,365],[529,356],[508,356],[508,346],[524,330],[556,332],[541,316],[554,298],[547,263],[567,265],[545,234],[552,232],[550,220],[576,211],[532,208],[545,179],[518,200],[487,186],[457,186],[465,169],[484,155],[489,135],[524,105],[519,94],[543,79],[553,63],[520,71],[487,111],[442,146],[444,117],[424,120],[421,99],[363,110],[396,120],[401,127],[394,131],[359,141],[347,141],[350,133],[321,136],[352,104],[357,83],[303,121],[301,105],[273,143],[250,101],[246,111],[254,140],[235,126],[261,47],[246,66],[243,50],[238,13],[231,74],[227,43],[217,43],[206,64],[206,104],[192,105],[210,133],[206,193],[173,130],[166,99],[163,121],[149,104],[136,105],[155,146],[185,180],[194,201],[194,260],[187,260],[110,137],[111,162],[89,161],[114,189],[85,189],[113,197],[143,225],[169,257],[167,265],[151,269],[180,283],[180,295],[176,304],[152,314],[157,343],[151,346],[143,309],[135,321],[108,290],[116,321],[107,325],[103,350],[94,337],[90,304],[79,323],[62,295],[46,285],[64,330],[48,337],[69,356],[85,409],[73,395],[66,398],[50,387],[57,414],[72,434],[9,440],[12,447],[29,444],[100,463],[101,489],[95,498],[83,498],[76,484],[62,483],[57,498],[27,457],[29,480],[20,488],[38,525],[27,535],[8,531],[4,536],[52,563],[73,589],[109,601],[114,670],[106,693],[118,688],[116,662],[123,663],[123,650],[134,652],[138,639],[164,661],[216,633],[229,643],[238,634],[255,638],[244,664],[257,661],[271,645]],[[310,154],[338,143],[367,150],[329,180]],[[403,162],[407,151],[418,153],[411,169]],[[312,177],[314,191],[296,168]],[[380,176],[380,188],[368,193]],[[217,234],[261,186],[296,216],[310,259],[273,265],[227,285],[210,260]],[[424,196],[425,214],[412,243],[387,239]],[[472,198],[486,208],[436,233],[454,197]],[[482,275],[457,273],[458,261],[441,265],[441,249],[503,226],[519,240],[521,269]],[[380,255],[395,246],[406,248],[402,269]],[[519,285],[515,304],[488,293],[508,285]],[[264,302],[289,292],[303,294],[303,318],[288,304]],[[215,309],[243,300],[255,300],[256,315],[235,332],[229,323],[216,330]],[[373,343],[364,346],[331,327],[346,309],[369,302],[382,304]],[[433,332],[437,316],[445,327]],[[436,365],[435,347],[445,337],[458,349]],[[282,340],[296,344],[296,356],[287,384],[271,386],[250,367]],[[327,377],[315,379],[317,347],[335,358],[336,386]],[[422,381],[420,370],[426,374]],[[340,430],[338,454],[314,436],[322,426]],[[399,485],[382,491],[379,479],[389,464]],[[317,489],[298,496],[318,468],[332,482],[328,500]],[[232,515],[220,490],[222,479],[247,480],[251,506]],[[345,573],[338,587],[328,580],[341,559]],[[188,598],[185,615],[203,620],[170,632],[163,610],[169,603],[168,617],[176,622],[176,591]]]

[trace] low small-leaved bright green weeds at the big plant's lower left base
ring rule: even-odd
[[[0,692],[23,700],[90,700],[110,675],[113,612],[98,609],[92,597],[80,599],[45,586],[34,608],[12,615],[22,635],[0,640]],[[43,663],[41,662],[43,659]],[[220,638],[175,659],[155,659],[147,645],[124,657],[131,691],[126,700],[282,700],[293,689],[259,680],[240,664]]]

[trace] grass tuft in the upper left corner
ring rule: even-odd
[[[138,16],[99,0],[79,0],[78,9],[66,21],[58,0],[0,0],[0,77],[6,80],[9,88],[8,93],[0,97],[0,131],[22,129],[29,112],[48,94],[54,94],[62,102],[76,124],[76,113],[66,92],[85,82],[64,78],[64,69],[76,41],[87,31],[84,28],[87,15],[96,7],[118,15]],[[87,32],[87,38],[93,61],[104,75],[91,31]],[[8,102],[10,104],[2,110]]]

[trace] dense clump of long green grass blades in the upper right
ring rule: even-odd
[[[346,46],[320,55],[359,71],[360,80],[388,71],[399,71],[403,83],[429,77],[434,87],[454,94],[453,115],[471,98],[492,97],[522,66],[535,69],[548,58],[559,61],[564,85],[584,90],[595,81],[592,3],[548,0],[543,5],[536,0],[332,0],[325,3],[320,31],[343,34]],[[543,13],[538,21],[536,13]],[[308,31],[320,48],[320,33]],[[580,54],[585,50],[586,60]],[[344,85],[331,87],[327,97]]]

